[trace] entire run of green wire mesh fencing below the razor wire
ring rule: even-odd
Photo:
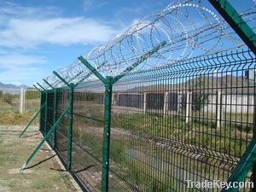
[[[109,190],[189,191],[187,180],[227,181],[253,139],[255,80],[249,74],[255,61],[249,50],[225,52],[131,73],[113,84]],[[69,103],[68,90],[47,95],[43,132]],[[84,189],[101,191],[104,84],[81,83],[73,95],[70,171]],[[49,143],[67,166],[68,113]]]

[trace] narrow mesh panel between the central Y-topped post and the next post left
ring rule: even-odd
[[[89,191],[102,189],[104,85],[79,84],[73,100],[72,172]]]

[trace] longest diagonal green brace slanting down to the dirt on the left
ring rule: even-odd
[[[38,144],[38,147],[35,148],[35,150],[32,152],[32,154],[28,157],[24,165],[21,167],[20,171],[23,171],[26,168],[26,165],[32,160],[33,156],[38,153],[39,148],[42,147],[45,141],[47,141],[52,134],[53,131],[55,131],[57,125],[61,122],[61,120],[64,118],[64,116],[67,114],[67,111],[69,108],[67,108],[62,114],[61,117],[55,122],[55,125],[53,125],[50,129],[49,132],[44,136],[42,141]]]

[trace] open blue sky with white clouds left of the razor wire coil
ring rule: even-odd
[[[0,0],[0,82],[40,82],[169,3],[172,0]],[[235,1],[234,6],[239,5]]]

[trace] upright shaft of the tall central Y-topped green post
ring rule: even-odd
[[[103,160],[102,160],[102,191],[108,191],[108,175],[109,175],[109,140],[111,125],[111,101],[112,101],[112,77],[106,77],[105,84],[105,118],[103,132]]]

